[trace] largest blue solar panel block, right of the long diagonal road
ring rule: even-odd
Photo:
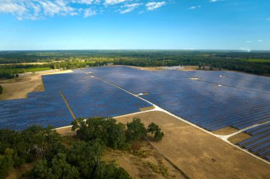
[[[141,97],[210,131],[227,126],[244,129],[270,120],[270,96],[264,93],[266,89],[269,92],[270,80],[266,77],[255,76],[249,80],[246,77],[242,80],[240,77],[246,74],[234,76],[236,73],[226,71],[145,71],[129,67],[83,70],[91,71],[132,93],[149,93]],[[227,77],[222,78],[220,74]],[[192,80],[192,77],[204,81]],[[224,79],[229,86],[215,84],[223,83]],[[237,83],[234,79],[237,79]]]

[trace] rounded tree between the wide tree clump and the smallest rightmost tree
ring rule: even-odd
[[[147,129],[144,127],[144,123],[139,118],[134,118],[132,122],[126,124],[126,141],[136,142],[141,138],[146,137]]]

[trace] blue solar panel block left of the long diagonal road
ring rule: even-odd
[[[113,117],[151,106],[79,69],[70,74],[42,78],[45,92],[29,93],[26,99],[0,101],[0,128],[21,130],[30,125],[70,125],[73,118],[59,91],[68,100],[76,117]]]

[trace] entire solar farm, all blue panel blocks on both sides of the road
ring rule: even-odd
[[[251,137],[238,145],[270,161],[268,77],[231,71],[146,71],[131,67],[73,71],[42,76],[45,92],[0,101],[1,128],[65,127],[78,117],[116,117],[154,104],[210,132],[225,127],[243,129]]]

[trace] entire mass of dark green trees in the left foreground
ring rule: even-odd
[[[23,131],[0,129],[0,178],[11,168],[36,163],[24,178],[130,178],[114,161],[102,161],[106,148],[129,150],[134,142],[153,134],[156,142],[164,134],[153,122],[146,128],[139,118],[126,125],[113,118],[92,117],[72,122],[75,142],[67,146],[53,127],[33,125]]]

